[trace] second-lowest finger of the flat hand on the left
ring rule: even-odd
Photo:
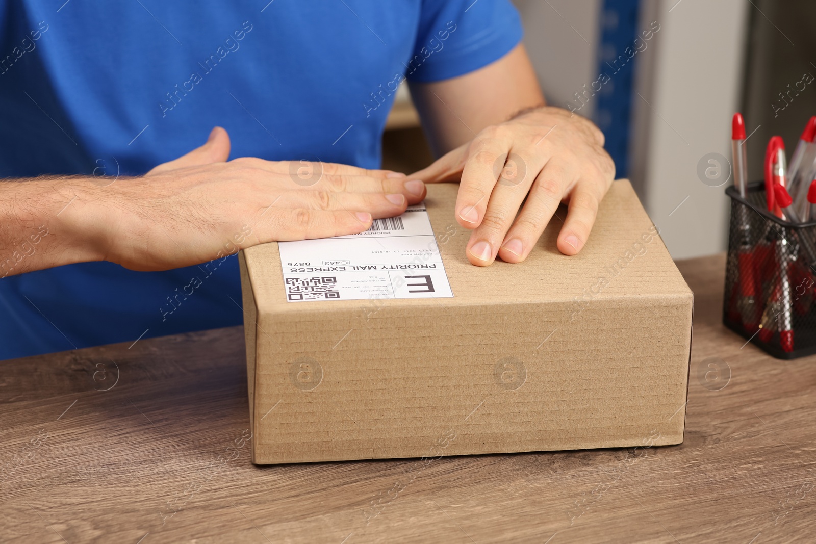
[[[367,211],[375,219],[380,219],[400,215],[408,207],[408,199],[400,193],[287,191],[277,197],[273,206],[309,210]]]

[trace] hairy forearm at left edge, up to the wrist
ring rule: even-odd
[[[84,176],[0,180],[0,278],[100,260],[98,225],[86,217],[93,188]]]

